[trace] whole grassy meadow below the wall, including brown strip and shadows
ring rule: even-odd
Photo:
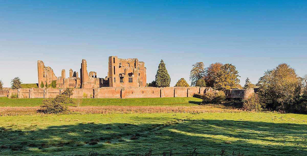
[[[0,98],[0,155],[307,155],[303,114],[198,98],[88,98],[47,115],[36,112],[41,100]]]

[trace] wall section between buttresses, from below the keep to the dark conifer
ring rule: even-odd
[[[125,98],[160,98],[161,88],[125,87]]]

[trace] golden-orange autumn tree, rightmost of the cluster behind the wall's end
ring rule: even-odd
[[[238,77],[239,72],[236,70],[234,65],[224,64],[221,66],[220,70],[217,73],[216,83],[214,84],[214,88],[219,90],[229,90],[237,87],[240,80]]]

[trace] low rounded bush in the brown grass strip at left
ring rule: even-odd
[[[60,95],[58,95],[60,96]],[[54,99],[44,99],[42,105],[40,106],[42,113],[62,113],[68,111],[67,106],[61,102],[56,102]]]

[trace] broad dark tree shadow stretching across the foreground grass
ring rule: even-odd
[[[138,119],[141,117],[138,117]],[[152,148],[161,155],[307,155],[307,125],[232,120],[177,120],[166,124],[75,124],[25,131],[0,128],[1,155],[87,154],[135,155]],[[5,148],[6,146],[7,148]],[[17,146],[14,148],[14,146]],[[16,151],[13,151],[16,150]]]

